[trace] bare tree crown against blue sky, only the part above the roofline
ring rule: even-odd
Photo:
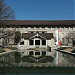
[[[0,20],[13,19],[15,19],[14,10],[6,5],[5,0],[0,0]]]

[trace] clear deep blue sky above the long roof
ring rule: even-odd
[[[16,20],[74,20],[75,0],[6,0]]]

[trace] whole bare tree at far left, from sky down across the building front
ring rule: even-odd
[[[6,36],[8,36],[6,24],[8,24],[7,20],[14,20],[15,19],[15,13],[14,10],[6,5],[5,0],[0,0],[0,26],[3,26],[0,28],[0,34],[2,33],[3,40],[7,39]],[[11,31],[10,31],[11,32]],[[1,38],[0,38],[1,39]]]

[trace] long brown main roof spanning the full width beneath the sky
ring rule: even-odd
[[[0,20],[5,25],[75,25],[75,20]]]

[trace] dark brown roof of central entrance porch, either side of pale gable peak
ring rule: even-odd
[[[22,38],[24,39],[29,39],[30,37],[35,36],[36,33],[23,33],[22,34]],[[52,33],[38,33],[39,36],[44,37],[46,39],[51,39],[53,38],[53,34]]]

